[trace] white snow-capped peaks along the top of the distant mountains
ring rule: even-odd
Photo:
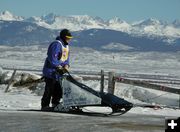
[[[32,16],[25,19],[20,16],[15,16],[9,11],[0,13],[0,20],[32,22],[39,26],[53,30],[63,29],[64,27],[71,29],[71,31],[93,28],[112,29],[137,36],[146,35],[167,37],[171,40],[168,41],[169,43],[172,43],[175,39],[180,38],[179,20],[168,23],[154,18],[149,18],[138,22],[127,23],[117,17],[105,21],[99,17],[92,17],[88,15],[61,16],[53,13],[43,15],[41,17]]]

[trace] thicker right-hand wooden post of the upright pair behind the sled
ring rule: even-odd
[[[108,74],[108,93],[114,94],[114,88],[115,88],[115,73],[109,72]]]

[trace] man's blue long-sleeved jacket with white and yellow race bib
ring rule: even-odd
[[[64,45],[61,39],[50,44],[43,67],[43,75],[45,77],[59,80],[61,75],[56,73],[56,68],[58,66],[69,65],[69,50],[66,50],[66,52],[68,52],[66,54],[63,50],[65,48],[69,49],[68,45]],[[65,60],[61,59],[64,54],[68,55]]]

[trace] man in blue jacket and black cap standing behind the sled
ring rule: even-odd
[[[70,31],[63,29],[56,40],[49,45],[47,58],[43,67],[45,91],[41,99],[42,110],[49,108],[50,101],[52,107],[57,106],[62,98],[60,80],[63,72],[69,68],[69,41],[71,38]]]

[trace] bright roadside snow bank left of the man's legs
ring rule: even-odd
[[[37,96],[27,89],[12,88],[11,92],[4,93],[6,85],[0,86],[0,109],[40,109],[41,96]]]

